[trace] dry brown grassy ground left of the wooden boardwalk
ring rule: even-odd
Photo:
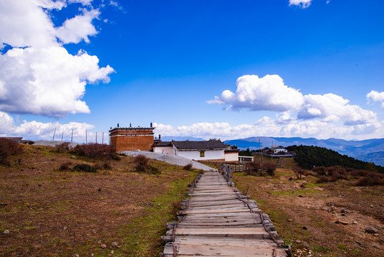
[[[141,256],[142,248],[124,247],[125,243],[136,246],[135,240],[140,246],[150,244],[145,245],[149,250],[143,256],[157,256],[160,236],[148,235],[148,241],[153,242],[141,242],[139,239],[146,235],[147,228],[139,226],[131,231],[128,225],[147,215],[144,203],[167,196],[170,190],[175,191],[175,186],[180,186],[177,199],[181,200],[186,192],[184,184],[190,183],[182,179],[194,176],[181,166],[159,161],[150,160],[161,171],[151,175],[133,172],[135,168],[129,156],[106,165],[103,160],[58,153],[52,147],[23,147],[25,161],[21,165],[0,166],[0,256],[73,256],[75,253],[108,256],[112,250],[113,256]],[[59,171],[60,167],[80,163],[98,165],[101,169],[96,173],[66,168]],[[171,202],[166,207],[166,204],[165,201],[157,208],[156,203],[152,210],[165,213],[162,214],[165,219],[159,220],[164,225],[172,216],[172,206],[177,205]],[[165,229],[160,227],[160,232],[155,230],[155,233]],[[3,234],[4,230],[10,233]],[[130,238],[133,233],[140,237]],[[110,248],[112,241],[122,247]],[[100,248],[101,243],[108,248]]]

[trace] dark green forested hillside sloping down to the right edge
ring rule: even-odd
[[[342,166],[346,168],[364,169],[384,173],[384,167],[373,163],[356,160],[340,153],[318,146],[288,146],[288,151],[296,153],[295,161],[302,168],[311,169],[313,166]]]

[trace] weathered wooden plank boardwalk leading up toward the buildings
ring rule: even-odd
[[[268,215],[218,172],[200,175],[160,256],[289,256]]]

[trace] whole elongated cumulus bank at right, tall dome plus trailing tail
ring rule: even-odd
[[[383,101],[384,93],[372,91],[367,95],[373,101]],[[225,90],[209,104],[223,104],[227,109],[250,111],[277,111],[277,124],[291,124],[296,120],[318,120],[324,123],[341,122],[345,126],[366,125],[377,128],[378,120],[373,111],[350,104],[348,99],[336,94],[303,95],[284,84],[279,75],[241,76],[237,90]],[[369,125],[369,126],[368,126]],[[362,131],[360,129],[360,131]]]

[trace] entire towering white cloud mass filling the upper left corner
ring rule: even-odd
[[[52,9],[80,3],[88,9],[54,26]],[[0,44],[11,49],[0,55],[0,110],[10,113],[63,117],[89,113],[82,101],[85,85],[110,81],[110,66],[79,51],[69,54],[62,44],[89,42],[98,33],[92,24],[100,11],[91,0],[0,1]]]

